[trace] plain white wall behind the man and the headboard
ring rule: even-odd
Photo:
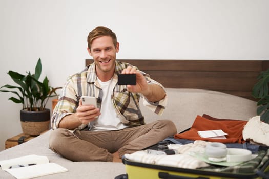
[[[34,71],[54,87],[84,68],[96,26],[118,37],[120,59],[269,59],[267,0],[0,0],[0,86],[9,70]],[[22,132],[20,104],[0,93],[0,150]],[[48,105],[50,107],[51,104]]]

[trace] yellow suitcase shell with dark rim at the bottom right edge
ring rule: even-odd
[[[154,164],[145,164],[130,161],[123,157],[123,164],[126,167],[126,173],[116,176],[115,179],[217,179],[217,178],[269,178],[269,160],[264,163],[259,171],[247,174],[237,174],[231,172],[213,172],[201,169],[184,169],[176,167],[167,167]]]

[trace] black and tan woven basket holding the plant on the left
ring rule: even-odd
[[[20,110],[20,124],[25,134],[38,136],[49,129],[50,109],[44,111]]]

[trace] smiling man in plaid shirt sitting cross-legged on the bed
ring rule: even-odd
[[[52,115],[50,149],[72,161],[121,162],[125,153],[142,150],[173,136],[170,120],[145,124],[139,107],[161,115],[167,104],[164,87],[129,63],[116,60],[119,43],[107,27],[88,35],[88,52],[94,62],[70,76]],[[118,85],[119,74],[135,74],[135,85]],[[81,96],[96,98],[83,106]]]

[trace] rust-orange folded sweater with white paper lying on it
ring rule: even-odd
[[[174,137],[175,139],[203,140],[221,143],[244,143],[242,131],[246,123],[247,121],[240,120],[209,120],[198,115],[190,130],[178,133]],[[197,133],[202,130],[218,129],[228,134],[225,136],[227,139],[201,138]]]

